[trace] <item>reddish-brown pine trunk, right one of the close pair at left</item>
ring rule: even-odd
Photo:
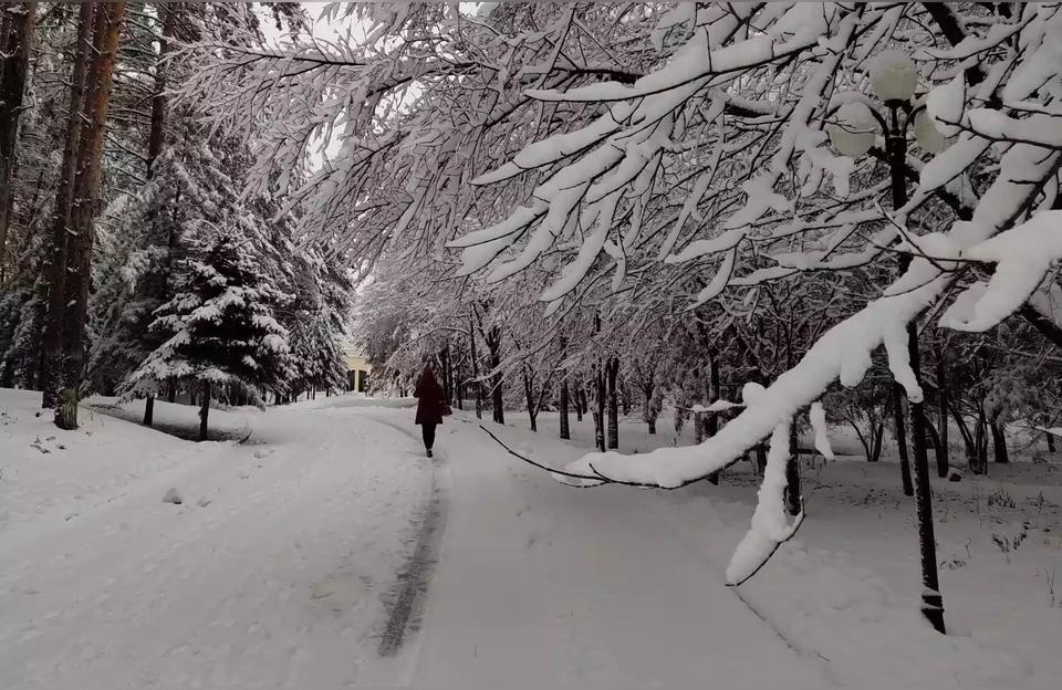
[[[74,175],[74,192],[71,197],[70,223],[72,230],[66,275],[66,297],[63,314],[63,386],[70,395],[80,396],[85,376],[87,355],[86,322],[88,317],[88,289],[92,269],[93,221],[100,205],[100,185],[103,176],[103,144],[111,103],[111,83],[118,52],[125,2],[100,3],[96,9],[93,32],[94,59],[88,73],[91,92],[85,101],[87,119],[79,140],[80,167]],[[58,418],[55,424],[63,429],[77,428],[77,406],[63,406],[72,410],[73,419]],[[64,416],[65,417],[65,416]]]

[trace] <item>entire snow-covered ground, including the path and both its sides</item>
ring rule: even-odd
[[[468,412],[427,461],[408,401],[217,412],[250,425],[243,445],[102,415],[60,432],[37,404],[0,390],[4,689],[1048,689],[1062,675],[1056,460],[935,484],[941,637],[917,613],[893,462],[809,458],[801,532],[733,589],[745,463],[719,487],[574,489]],[[592,443],[589,420],[573,443],[555,415],[539,421],[485,425],[554,467]],[[627,420],[622,443],[675,442],[660,426]]]

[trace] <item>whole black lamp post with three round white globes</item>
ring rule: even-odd
[[[918,73],[914,61],[899,51],[879,53],[871,65],[871,87],[888,108],[888,121],[864,103],[851,102],[837,108],[842,124],[831,125],[830,139],[841,154],[857,158],[871,149],[875,139],[875,121],[885,136],[885,157],[892,177],[893,209],[907,203],[907,129],[914,123],[914,134],[919,145],[931,153],[947,147],[947,139],[933,126],[925,107],[913,107],[912,97]],[[910,264],[910,255],[904,254],[899,270]],[[922,384],[918,352],[918,325],[907,323],[907,353],[915,380]],[[912,450],[915,464],[915,504],[918,516],[918,544],[922,554],[922,613],[938,632],[945,632],[944,597],[937,577],[937,547],[933,530],[933,498],[929,490],[929,457],[926,449],[926,417],[923,402],[908,405],[910,415]]]

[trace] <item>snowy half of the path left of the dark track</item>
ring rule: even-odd
[[[347,410],[272,411],[257,427],[268,443],[188,446],[70,522],[0,532],[0,687],[356,678],[430,473],[412,439]],[[163,503],[170,485],[184,504]]]

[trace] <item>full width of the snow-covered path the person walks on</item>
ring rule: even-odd
[[[248,446],[108,421],[162,467],[0,531],[0,687],[830,686],[650,494],[562,487],[457,420],[429,463],[409,416],[272,410]]]

